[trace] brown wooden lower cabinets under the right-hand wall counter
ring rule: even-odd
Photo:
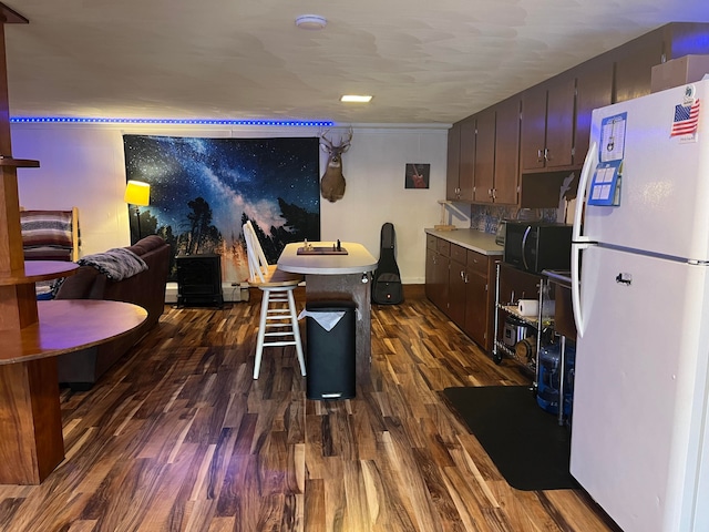
[[[493,347],[495,260],[427,235],[425,294],[485,351]]]

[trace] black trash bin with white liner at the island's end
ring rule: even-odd
[[[356,313],[353,301],[310,301],[306,319],[306,396],[308,399],[350,399],[356,386]],[[319,319],[342,313],[327,330]],[[322,316],[317,316],[322,315]],[[327,326],[327,324],[326,324]]]

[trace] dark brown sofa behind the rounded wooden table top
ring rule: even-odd
[[[105,299],[140,305],[147,319],[127,335],[105,344],[58,357],[59,382],[75,390],[86,390],[133,345],[154,327],[165,308],[165,286],[171,247],[163,238],[151,235],[127,249],[141,257],[147,269],[122,280],[112,280],[94,266],[82,265],[66,277],[56,299]],[[85,257],[88,258],[88,257]]]

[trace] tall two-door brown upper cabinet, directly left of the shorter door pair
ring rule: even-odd
[[[475,203],[516,205],[520,177],[520,98],[476,114]]]

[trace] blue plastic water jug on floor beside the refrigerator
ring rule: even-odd
[[[574,401],[574,360],[576,349],[566,344],[564,374],[564,416],[571,416]],[[540,381],[536,390],[536,402],[547,412],[558,415],[559,362],[562,346],[553,344],[540,350]]]

